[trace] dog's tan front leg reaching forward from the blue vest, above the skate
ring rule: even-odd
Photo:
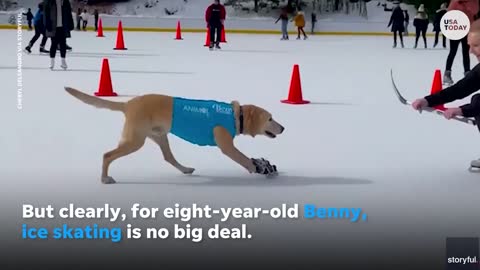
[[[233,161],[240,164],[250,173],[255,173],[256,168],[252,160],[245,156],[235,145],[233,145],[233,138],[228,131],[223,127],[215,127],[213,130],[215,142],[222,151],[222,153]]]

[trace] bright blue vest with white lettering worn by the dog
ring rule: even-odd
[[[236,135],[235,114],[229,103],[174,97],[170,132],[190,143],[216,146],[213,129],[222,126]]]

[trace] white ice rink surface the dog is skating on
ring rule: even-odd
[[[23,32],[22,48],[32,35]],[[2,208],[11,216],[4,230],[18,230],[25,202],[108,202],[116,207],[134,202],[157,207],[177,202],[217,207],[312,203],[362,208],[368,221],[263,219],[250,230],[255,239],[282,234],[279,245],[287,239],[316,241],[323,254],[329,254],[332,241],[350,254],[365,246],[387,252],[396,241],[408,245],[412,254],[434,245],[439,264],[445,237],[480,234],[480,173],[468,171],[470,161],[480,157],[478,130],[401,105],[390,82],[393,68],[407,98],[428,94],[434,70],[443,75],[447,50],[425,50],[422,42],[412,49],[412,37],[406,38],[406,48],[392,49],[391,37],[295,40],[292,35],[290,41],[280,41],[275,35],[227,33],[222,50],[209,51],[204,34],[184,33],[184,40],[177,41],[174,33],[125,32],[128,50],[115,51],[114,32],[105,38],[93,32],[72,36],[67,71],[59,68],[59,53],[57,70],[49,70],[48,56],[38,54],[39,41],[32,54],[22,54],[19,110],[17,33],[0,34],[5,44],[0,52],[0,193]],[[433,40],[428,41],[431,47]],[[117,184],[101,184],[102,155],[116,147],[123,116],[83,104],[63,87],[93,94],[104,57],[120,95],[111,100],[162,93],[238,100],[269,110],[285,126],[284,134],[273,140],[240,136],[235,142],[247,156],[277,165],[280,176],[250,175],[216,148],[170,136],[174,155],[196,169],[193,175],[181,175],[147,141],[140,151],[112,164]],[[476,63],[472,57],[472,67]],[[300,66],[303,95],[311,104],[280,103],[288,95],[294,64]],[[453,79],[461,76],[459,50]]]

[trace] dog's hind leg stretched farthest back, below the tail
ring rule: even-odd
[[[132,137],[124,137],[119,143],[118,147],[112,151],[109,151],[103,155],[102,166],[102,183],[113,184],[115,180],[108,175],[108,168],[110,164],[123,156],[131,154],[140,149],[145,144],[145,136],[135,135]]]

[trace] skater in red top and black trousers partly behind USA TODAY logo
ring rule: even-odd
[[[448,7],[448,10],[460,10],[467,15],[470,19],[470,23],[475,20],[475,16],[478,13],[479,6],[477,0],[452,0]],[[470,71],[470,55],[468,51],[470,46],[468,45],[467,37],[461,40],[450,40],[450,51],[447,57],[447,63],[445,67],[445,73],[443,75],[443,82],[447,85],[453,84],[452,79],[452,66],[455,56],[457,54],[458,47],[462,43],[462,55],[463,55],[463,69],[464,75]]]

